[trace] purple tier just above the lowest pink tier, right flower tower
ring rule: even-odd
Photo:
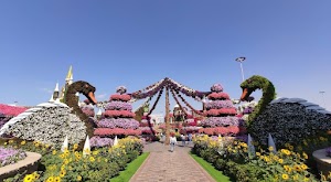
[[[238,117],[210,117],[202,120],[200,124],[202,127],[227,127],[227,126],[244,126],[245,121]]]

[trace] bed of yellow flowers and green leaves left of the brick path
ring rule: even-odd
[[[42,146],[40,142],[29,142],[21,140],[1,140],[4,147],[26,149],[42,153],[38,173],[17,174],[10,181],[23,181],[24,178],[33,178],[32,181],[93,181],[104,182],[108,178],[118,175],[120,170],[125,170],[127,163],[135,160],[142,152],[141,140],[134,137],[120,139],[118,144],[111,148],[99,148],[94,151],[86,151],[86,157],[82,151],[76,151],[78,144],[64,152]],[[106,178],[105,178],[106,176]]]

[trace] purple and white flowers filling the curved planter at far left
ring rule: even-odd
[[[0,147],[0,167],[12,164],[26,158],[26,153],[22,150]]]

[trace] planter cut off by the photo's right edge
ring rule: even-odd
[[[312,157],[317,162],[319,172],[327,176],[331,171],[331,158],[327,157],[325,149],[314,151]]]

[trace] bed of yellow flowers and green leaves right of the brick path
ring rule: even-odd
[[[322,140],[325,140],[322,138]],[[274,153],[273,148],[264,150],[258,143],[258,152],[249,153],[248,146],[239,140],[215,140],[207,136],[196,137],[193,151],[204,160],[231,176],[234,181],[269,182],[269,181],[317,181],[308,170],[308,156],[296,152],[293,146],[280,149]]]

